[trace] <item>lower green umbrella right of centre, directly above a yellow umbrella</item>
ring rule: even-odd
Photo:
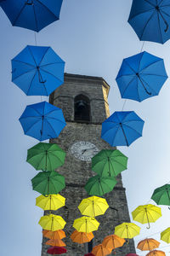
[[[88,179],[88,183],[85,185],[85,189],[88,195],[105,195],[111,192],[116,185],[115,177],[100,177],[96,175]]]

